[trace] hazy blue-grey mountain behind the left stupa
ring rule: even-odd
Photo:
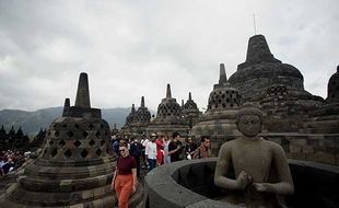
[[[35,112],[2,109],[0,111],[0,127],[3,125],[8,131],[12,126],[14,126],[15,130],[21,126],[24,134],[36,135],[40,128],[48,128],[55,118],[61,116],[61,113],[62,107],[49,107]],[[129,113],[130,107],[102,109],[103,118],[109,124],[110,128],[114,128],[114,124],[117,124],[117,128],[120,128]]]

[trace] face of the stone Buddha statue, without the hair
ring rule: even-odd
[[[257,115],[243,115],[237,124],[238,130],[246,137],[255,137],[261,130],[261,122]]]

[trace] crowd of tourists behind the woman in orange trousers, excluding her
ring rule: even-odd
[[[155,166],[180,160],[192,160],[211,157],[210,139],[202,136],[200,142],[194,137],[183,138],[178,132],[172,137],[151,134],[150,137],[120,139],[113,136],[112,146],[116,154],[120,154],[119,145],[126,143],[129,154],[137,163],[137,176],[140,169],[151,171]],[[198,146],[199,143],[199,146]]]

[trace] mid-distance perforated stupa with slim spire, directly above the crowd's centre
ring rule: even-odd
[[[176,99],[172,97],[171,85],[167,84],[166,97],[159,104],[156,117],[150,123],[147,134],[162,132],[172,135],[173,132],[179,132],[182,136],[187,136],[189,130],[189,126],[182,117],[180,105],[176,102]]]

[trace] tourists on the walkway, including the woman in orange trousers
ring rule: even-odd
[[[184,141],[178,132],[174,132],[172,138],[151,134],[149,138],[143,136],[140,140],[125,140],[114,136],[112,147],[118,155],[112,189],[117,194],[119,208],[127,208],[130,195],[137,190],[140,169],[151,171],[171,162],[211,157],[208,137],[201,137],[201,143],[198,146],[191,137]]]

